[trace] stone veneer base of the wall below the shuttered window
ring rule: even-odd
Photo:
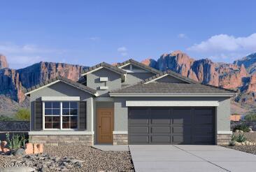
[[[94,135],[31,135],[29,143],[43,145],[93,145]]]

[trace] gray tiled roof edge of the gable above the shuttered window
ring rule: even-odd
[[[45,86],[45,85],[48,85],[48,84],[50,84],[50,83],[52,83],[52,82],[55,82],[56,80],[60,80],[60,81],[62,81],[63,83],[67,83],[67,84],[72,85],[73,87],[76,87],[76,88],[78,88],[78,89],[82,89],[83,91],[88,92],[88,93],[90,93],[90,94],[96,94],[96,93],[97,93],[97,90],[95,90],[95,89],[92,89],[92,88],[90,88],[90,87],[86,87],[85,85],[82,85],[82,84],[80,84],[80,83],[76,83],[76,82],[73,81],[73,80],[69,80],[69,79],[67,79],[67,78],[63,78],[63,77],[60,77],[60,76],[57,76],[57,77],[52,78],[52,79],[50,79],[50,80],[46,80],[45,82],[40,83],[40,84],[38,84],[38,85],[35,85],[35,86],[33,86],[33,87],[30,87],[30,88],[28,88],[28,89],[24,89],[23,92],[26,94],[26,93],[28,93],[28,92],[33,91],[34,89],[38,89],[38,88],[43,87],[43,86]]]

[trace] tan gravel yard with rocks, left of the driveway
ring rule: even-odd
[[[30,166],[36,171],[134,171],[129,152],[88,146],[45,146],[40,155],[0,155],[0,168]]]

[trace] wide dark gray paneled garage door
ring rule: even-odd
[[[129,108],[129,144],[215,144],[214,108]]]

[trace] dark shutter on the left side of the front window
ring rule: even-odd
[[[43,129],[43,106],[42,101],[35,101],[34,104],[34,125],[35,130],[41,130]]]

